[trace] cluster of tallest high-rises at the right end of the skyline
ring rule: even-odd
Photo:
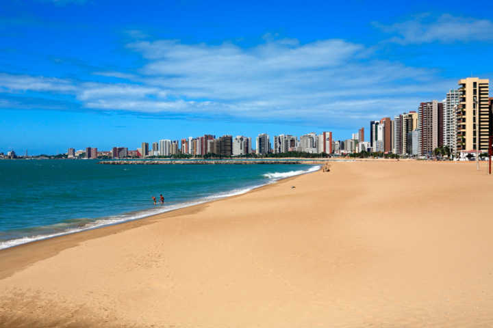
[[[359,150],[408,156],[428,156],[445,147],[456,156],[487,152],[493,128],[489,84],[477,77],[461,79],[442,101],[421,102],[416,111],[393,120],[370,121],[370,140],[360,143]]]

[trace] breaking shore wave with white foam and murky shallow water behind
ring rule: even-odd
[[[170,204],[167,206],[156,206],[153,208],[148,208],[146,210],[139,210],[136,212],[125,213],[122,215],[101,217],[100,219],[96,219],[96,220],[86,219],[86,218],[68,219],[66,221],[60,223],[54,223],[49,226],[34,227],[31,229],[23,230],[22,232],[18,231],[21,232],[21,234],[31,234],[31,235],[22,236],[20,238],[14,238],[7,241],[0,241],[0,249],[10,248],[25,243],[31,243],[34,241],[41,241],[43,239],[64,236],[66,234],[74,234],[76,232],[103,228],[105,226],[113,226],[118,223],[134,221],[138,219],[143,219],[144,217],[151,217],[153,215],[170,212],[172,210],[178,210],[179,208],[186,208],[189,206],[212,202],[214,200],[218,200],[221,198],[242,195],[253,189],[257,189],[259,187],[265,186],[266,184],[273,183],[277,180],[281,180],[283,178],[289,178],[290,176],[298,176],[300,174],[316,172],[318,169],[320,169],[320,166],[313,166],[306,170],[296,170],[290,172],[274,172],[274,173],[263,174],[264,178],[268,178],[269,180],[262,184],[257,184],[250,187],[244,187],[241,189],[233,189],[230,191],[225,191],[220,193],[214,193],[212,195],[202,197],[201,199],[192,202]]]

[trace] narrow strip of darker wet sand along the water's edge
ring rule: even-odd
[[[314,165],[314,166],[316,166],[316,165]],[[57,236],[48,236],[46,238],[40,238],[40,239],[36,239],[34,241],[28,241],[27,243],[21,243],[21,244],[10,246],[10,247],[5,247],[3,249],[0,249],[0,263],[8,264],[5,266],[8,268],[14,268],[14,267],[18,266],[19,264],[21,267],[19,267],[17,269],[11,269],[11,270],[10,269],[5,270],[4,268],[0,267],[0,280],[5,278],[5,277],[12,275],[13,273],[15,273],[18,270],[23,269],[24,267],[26,267],[29,264],[32,264],[34,262],[37,262],[38,260],[43,260],[44,258],[58,254],[59,251],[62,251],[66,248],[74,247],[83,241],[88,241],[88,240],[93,239],[93,238],[100,238],[103,236],[108,236],[110,234],[117,234],[118,232],[123,232],[125,230],[129,230],[132,228],[137,228],[140,226],[152,224],[157,219],[165,219],[166,217],[175,217],[175,216],[179,216],[179,215],[187,215],[190,213],[199,213],[203,208],[205,208],[205,206],[208,206],[209,204],[213,204],[214,202],[229,200],[231,198],[240,197],[240,196],[245,195],[247,193],[254,193],[255,191],[260,191],[262,189],[267,189],[268,187],[272,187],[275,184],[279,184],[281,182],[288,182],[290,180],[298,178],[299,176],[303,176],[306,174],[313,174],[316,172],[320,172],[321,170],[322,170],[322,166],[318,167],[318,169],[311,171],[311,172],[296,174],[295,176],[288,176],[286,178],[279,178],[278,180],[273,180],[273,181],[267,182],[266,184],[262,184],[260,186],[253,187],[253,188],[249,189],[248,191],[246,191],[244,193],[240,193],[238,195],[218,197],[217,199],[213,199],[210,201],[203,201],[203,202],[199,202],[198,204],[191,204],[189,206],[183,206],[183,207],[179,207],[176,209],[166,210],[162,213],[151,214],[151,215],[140,217],[137,219],[129,219],[126,221],[109,223],[107,225],[97,226],[94,228],[87,228],[87,229],[79,230],[79,231],[75,231],[75,232],[66,232],[66,233],[62,232],[62,234],[57,235]],[[101,232],[97,233],[98,230],[101,230]],[[81,234],[81,236],[79,236],[77,238],[77,235],[79,235],[79,234]],[[73,238],[70,238],[72,236],[73,236]],[[64,241],[63,238],[67,238],[67,240]],[[68,240],[68,239],[72,239],[72,240]],[[16,249],[25,249],[25,248],[29,248],[29,247],[36,247],[36,245],[39,245],[38,247],[44,247],[45,245],[49,246],[51,241],[53,241],[53,244],[57,245],[57,247],[56,247],[57,250],[54,252],[52,251],[49,254],[45,254],[46,256],[42,256],[42,257],[36,258],[36,259],[29,259],[26,262],[23,262],[20,259],[14,259],[14,257],[16,257],[16,254],[15,254]],[[14,254],[9,254],[10,251]]]

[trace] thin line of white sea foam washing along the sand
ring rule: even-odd
[[[74,234],[75,232],[92,230],[92,229],[101,228],[101,227],[105,227],[105,226],[112,226],[112,225],[117,224],[117,223],[123,223],[123,222],[127,222],[127,221],[134,221],[134,220],[138,220],[138,219],[143,219],[144,217],[150,217],[152,215],[157,215],[160,213],[166,213],[166,212],[169,212],[171,210],[177,210],[179,208],[185,208],[185,207],[189,207],[189,206],[194,206],[194,205],[198,205],[198,204],[212,202],[212,201],[218,200],[220,198],[242,195],[243,193],[247,193],[253,189],[257,189],[257,188],[262,187],[266,184],[273,183],[277,180],[281,180],[283,178],[289,178],[290,176],[299,176],[300,174],[307,174],[310,172],[315,172],[318,169],[320,169],[320,166],[313,166],[313,167],[310,167],[309,169],[306,169],[306,170],[300,169],[300,170],[290,171],[290,172],[267,173],[267,174],[264,174],[263,176],[264,176],[264,178],[268,178],[268,180],[263,184],[258,184],[255,186],[246,187],[246,188],[242,188],[242,189],[233,189],[231,191],[225,191],[222,193],[215,193],[214,195],[203,197],[203,198],[201,198],[197,201],[194,201],[194,202],[171,204],[168,206],[155,206],[155,207],[149,208],[147,210],[140,210],[137,212],[125,213],[123,215],[112,215],[110,217],[103,217],[101,219],[97,219],[95,221],[88,222],[84,226],[78,226],[76,228],[68,228],[67,230],[64,230],[63,232],[56,232],[53,234],[38,234],[35,236],[24,236],[21,238],[12,239],[10,241],[2,241],[2,242],[0,242],[0,249],[10,248],[10,247],[14,247],[14,246],[25,244],[25,243],[31,243],[33,241],[41,241],[43,239],[53,238],[53,237],[57,237],[57,236],[63,236],[66,234]],[[47,227],[47,228],[49,228],[49,227]],[[55,228],[55,227],[53,227],[53,228]]]

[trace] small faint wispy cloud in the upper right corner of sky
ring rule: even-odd
[[[420,44],[429,42],[492,41],[493,22],[487,19],[466,18],[442,14],[421,14],[401,23],[373,25],[385,33],[394,34],[391,42]]]

